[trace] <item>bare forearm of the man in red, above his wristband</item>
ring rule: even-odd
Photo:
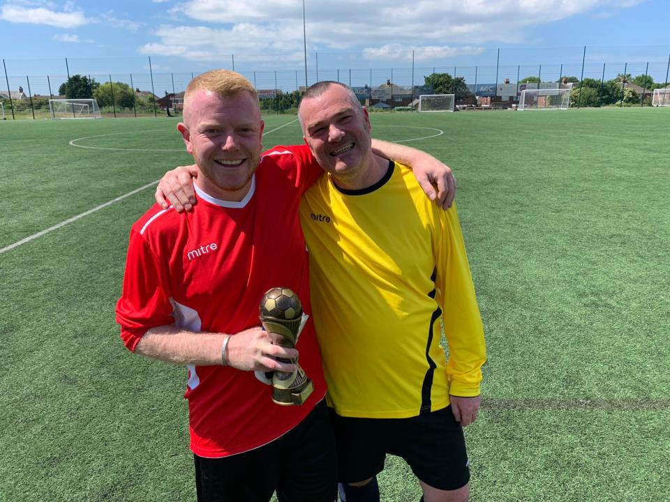
[[[136,353],[176,365],[221,365],[223,333],[194,333],[175,326],[157,326],[144,334]]]

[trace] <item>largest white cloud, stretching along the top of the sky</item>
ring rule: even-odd
[[[481,51],[476,45],[523,43],[524,30],[574,15],[600,15],[644,0],[339,0],[306,3],[308,51],[366,47],[374,59],[449,58]],[[235,54],[237,59],[289,57],[302,50],[303,12],[298,0],[189,0],[170,10],[174,20],[202,26],[163,25],[144,54],[193,59]],[[378,44],[371,45],[371,40]]]

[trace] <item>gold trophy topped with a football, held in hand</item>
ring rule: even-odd
[[[282,347],[295,348],[302,321],[302,305],[297,294],[288,288],[269,289],[260,301],[260,322],[272,342]],[[294,372],[272,374],[272,400],[282,406],[303,404],[314,390],[312,381],[298,365],[298,358],[278,358],[282,363],[297,366]]]

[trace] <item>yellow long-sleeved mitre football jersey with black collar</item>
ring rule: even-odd
[[[364,190],[321,176],[300,217],[339,415],[406,418],[448,406],[449,393],[479,395],[484,333],[455,205],[442,211],[408,167],[389,162]]]

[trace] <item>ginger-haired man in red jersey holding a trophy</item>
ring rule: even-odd
[[[268,501],[275,490],[281,501],[332,501],[336,459],[313,323],[296,350],[272,344],[258,319],[260,298],[277,286],[311,313],[298,207],[322,170],[306,146],[261,156],[263,126],[241,75],[214,70],[188,85],[178,128],[197,164],[198,206],[178,214],[156,205],[133,225],[117,321],[128,349],[188,367],[200,501]],[[278,358],[298,351],[314,391],[302,406],[277,406],[254,371],[292,371]]]

